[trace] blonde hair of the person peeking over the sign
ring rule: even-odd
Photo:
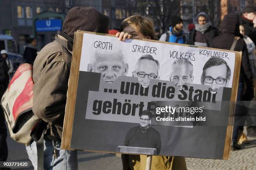
[[[144,36],[149,36],[151,40],[157,40],[155,37],[154,23],[150,17],[134,14],[123,20],[120,30],[123,31],[123,29],[128,26],[133,27]]]

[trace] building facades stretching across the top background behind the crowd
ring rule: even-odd
[[[109,29],[119,30],[125,18],[140,13],[149,15],[155,27],[164,31],[172,15],[180,15],[184,28],[187,28],[189,23],[196,23],[197,14],[204,11],[210,15],[213,25],[218,27],[225,14],[241,13],[246,5],[256,5],[256,0],[0,0],[0,34],[13,36],[18,44],[18,52],[23,54],[29,37],[36,37],[40,50],[54,40],[58,32],[37,32],[35,18],[51,20],[54,19],[51,16],[65,16],[74,6],[92,6],[108,15]]]

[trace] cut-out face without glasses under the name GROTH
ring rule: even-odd
[[[95,52],[90,56],[90,64],[88,64],[89,72],[102,73],[103,80],[112,83],[118,77],[127,75],[128,64],[124,60],[123,54],[119,52]]]

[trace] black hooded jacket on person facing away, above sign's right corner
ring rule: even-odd
[[[242,51],[242,63],[240,70],[240,82],[245,81],[248,88],[252,87],[252,74],[249,63],[248,51],[246,42],[243,40],[243,35],[239,32],[239,18],[236,14],[227,14],[221,23],[220,36],[215,37],[212,42],[213,48],[220,48],[224,50],[230,50],[234,37],[239,36],[234,51]]]

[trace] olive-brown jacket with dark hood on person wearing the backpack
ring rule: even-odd
[[[74,31],[108,33],[108,16],[92,7],[73,7],[63,32],[37,55],[33,65],[33,113],[48,123],[46,133],[61,139]]]

